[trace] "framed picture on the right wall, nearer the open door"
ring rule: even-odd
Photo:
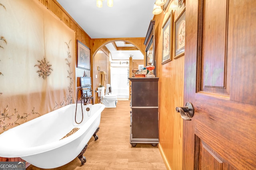
[[[185,53],[185,8],[181,12],[180,16],[175,20],[174,27],[175,27],[175,57],[182,56]]]

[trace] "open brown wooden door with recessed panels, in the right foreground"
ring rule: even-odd
[[[182,169],[256,169],[256,1],[186,0]]]

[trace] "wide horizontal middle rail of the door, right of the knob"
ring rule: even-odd
[[[255,106],[200,93],[196,94],[195,105],[195,135],[200,140],[234,167],[248,167],[254,162]]]

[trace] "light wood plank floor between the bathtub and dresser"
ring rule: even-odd
[[[130,145],[130,101],[118,100],[116,108],[104,109],[97,135],[97,141],[92,137],[88,143],[84,166],[76,157],[52,170],[166,170],[158,147]],[[26,170],[42,169],[30,165]]]

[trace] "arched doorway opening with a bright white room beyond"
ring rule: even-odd
[[[129,98],[129,66],[132,56],[132,68],[144,63],[144,53],[136,45],[125,40],[113,40],[102,44],[93,55],[94,89],[102,85],[111,84],[112,94],[118,99]],[[105,72],[105,82],[102,82],[102,73]],[[95,94],[95,102],[100,102]]]

